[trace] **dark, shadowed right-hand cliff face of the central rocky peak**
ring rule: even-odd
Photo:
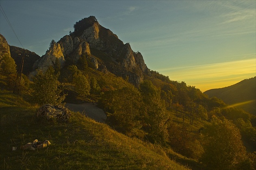
[[[104,52],[104,57],[92,54],[104,60],[106,69],[115,75],[129,77],[132,84],[139,85],[143,80],[143,73],[148,71],[141,53],[133,52],[130,44],[124,44],[117,35],[98,22],[85,29],[79,39],[87,41],[90,48]]]

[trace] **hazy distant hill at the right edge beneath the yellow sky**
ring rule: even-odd
[[[222,99],[229,105],[252,101],[237,107],[251,114],[256,114],[256,77],[245,79],[228,87],[207,90],[204,93],[209,97]]]

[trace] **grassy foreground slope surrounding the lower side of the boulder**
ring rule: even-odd
[[[38,120],[37,109],[0,91],[0,169],[186,169],[168,158],[187,160],[171,150],[128,138],[79,113],[65,124]],[[35,139],[52,144],[37,151],[19,149]]]

